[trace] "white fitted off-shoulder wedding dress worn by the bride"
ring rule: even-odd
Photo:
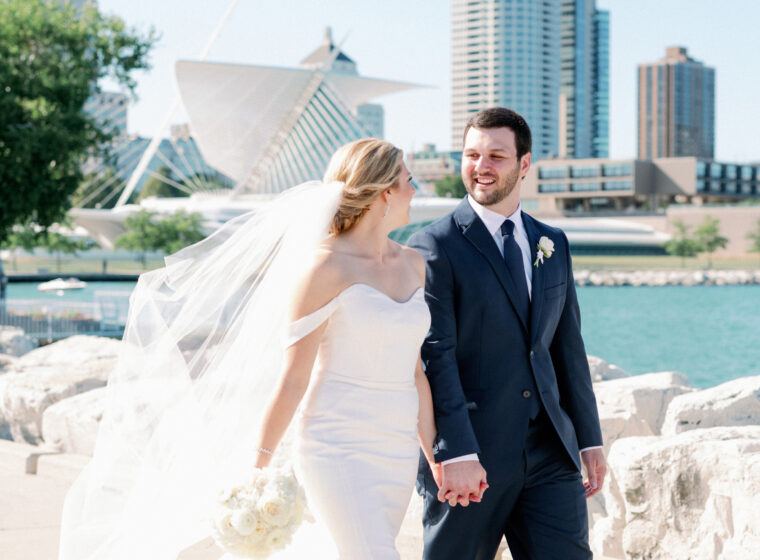
[[[342,560],[397,560],[419,459],[414,370],[430,313],[422,288],[398,302],[352,284],[291,324],[288,343],[325,321],[298,417],[296,473]]]

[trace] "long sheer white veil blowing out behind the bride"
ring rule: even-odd
[[[210,534],[218,490],[252,468],[289,295],[341,191],[289,189],[140,277],[59,560],[174,559]]]

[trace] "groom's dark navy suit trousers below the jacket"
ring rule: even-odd
[[[586,560],[588,514],[580,473],[546,413],[531,421],[521,468],[466,508],[439,502],[425,481],[424,560],[493,560],[501,537],[514,560]]]

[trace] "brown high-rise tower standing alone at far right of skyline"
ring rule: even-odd
[[[715,69],[668,47],[665,58],[640,64],[639,158],[715,152]]]

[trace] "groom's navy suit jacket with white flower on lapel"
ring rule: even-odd
[[[579,449],[602,444],[567,237],[522,218],[531,248],[541,236],[555,247],[533,268],[529,318],[513,305],[507,265],[467,200],[409,240],[427,261],[432,321],[422,360],[438,427],[435,459],[479,453],[491,482],[521,464],[531,398],[579,470]]]

